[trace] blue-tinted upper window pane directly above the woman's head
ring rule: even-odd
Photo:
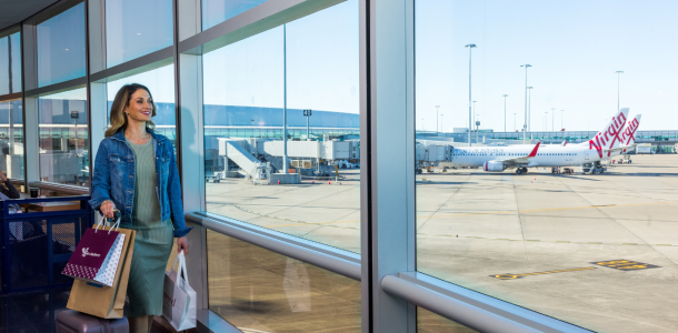
[[[106,1],[108,67],[158,51],[172,43],[171,0]]]

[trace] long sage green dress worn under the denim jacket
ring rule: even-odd
[[[127,140],[134,153],[136,173],[130,229],[137,231],[127,287],[129,317],[162,315],[164,268],[172,251],[172,223],[160,221],[152,141],[149,139],[144,144],[133,144]]]

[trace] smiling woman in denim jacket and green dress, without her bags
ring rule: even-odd
[[[164,268],[172,249],[188,253],[181,185],[172,143],[153,132],[156,104],[148,88],[127,84],[111,107],[99,144],[90,204],[106,218],[121,213],[120,226],[137,231],[127,294],[130,332],[150,332],[162,314]],[[171,219],[171,224],[169,220]]]

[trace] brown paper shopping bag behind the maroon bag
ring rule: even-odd
[[[104,226],[104,230],[109,229]],[[118,232],[126,236],[113,285],[99,286],[76,280],[66,307],[103,319],[120,319],[123,316],[122,307],[124,306],[130,265],[134,252],[136,231],[120,228]]]

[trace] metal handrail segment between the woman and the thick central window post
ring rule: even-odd
[[[330,272],[360,281],[360,263],[328,254],[312,246],[285,242],[265,232],[246,230],[236,223],[218,221],[198,213],[188,213],[186,219],[206,229],[241,240],[243,242],[280,253],[282,255],[319,266]]]

